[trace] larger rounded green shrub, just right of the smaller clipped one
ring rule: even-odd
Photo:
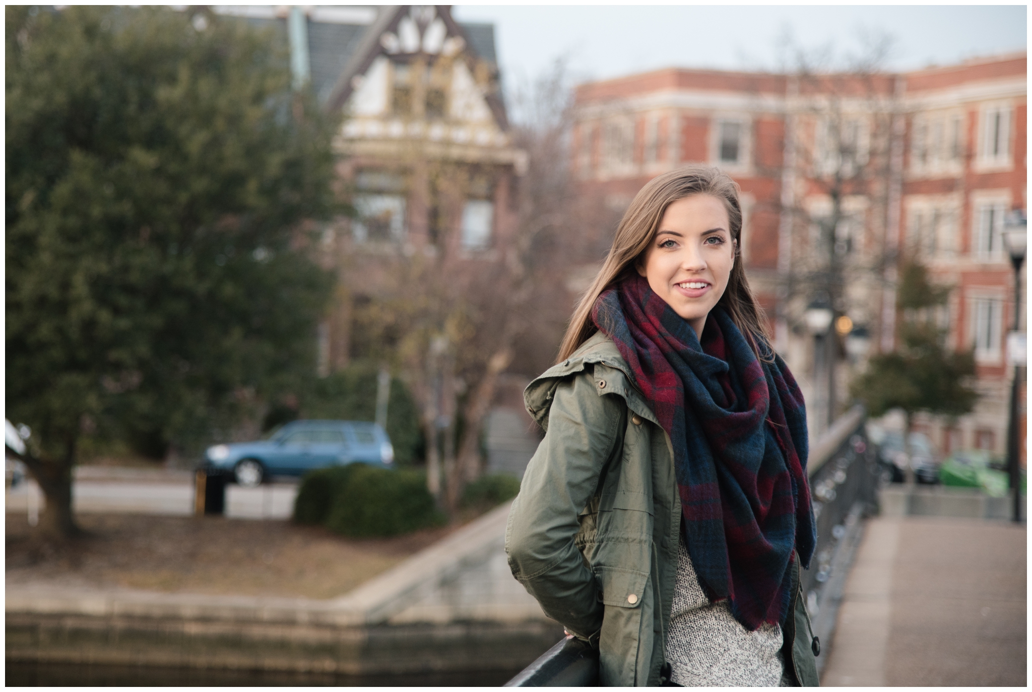
[[[362,466],[334,495],[326,527],[356,538],[394,536],[446,523],[420,471]]]

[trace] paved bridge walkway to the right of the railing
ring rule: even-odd
[[[821,685],[1024,687],[1026,573],[1024,524],[870,520]]]

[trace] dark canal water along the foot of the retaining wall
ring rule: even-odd
[[[8,687],[499,687],[519,669],[340,675],[7,661]]]

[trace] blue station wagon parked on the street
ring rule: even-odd
[[[356,461],[393,466],[394,448],[376,423],[294,421],[268,439],[209,447],[202,468],[231,475],[245,488],[255,488],[270,475],[301,475],[313,468]]]

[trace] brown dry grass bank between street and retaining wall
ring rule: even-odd
[[[8,514],[7,584],[333,598],[458,526],[354,539],[286,521],[125,514],[77,520],[85,537],[51,543],[25,515]]]

